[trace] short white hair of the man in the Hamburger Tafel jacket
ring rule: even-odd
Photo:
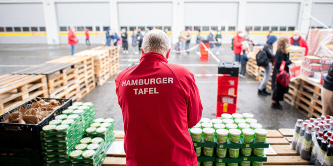
[[[149,30],[143,37],[142,49],[145,52],[158,52],[165,56],[170,48],[169,37],[163,30]]]

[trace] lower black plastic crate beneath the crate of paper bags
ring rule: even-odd
[[[43,158],[39,150],[0,149],[0,166],[5,165],[42,166]]]

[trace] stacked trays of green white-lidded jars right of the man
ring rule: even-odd
[[[199,165],[262,165],[269,146],[267,130],[251,113],[223,113],[221,117],[201,118],[190,128]]]

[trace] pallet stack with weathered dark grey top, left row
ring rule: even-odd
[[[71,98],[72,100],[78,98],[78,69],[75,67],[75,63],[43,63],[14,73],[46,75],[49,97]]]

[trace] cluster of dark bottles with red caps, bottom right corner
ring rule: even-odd
[[[333,116],[298,119],[292,148],[315,165],[333,165]]]

